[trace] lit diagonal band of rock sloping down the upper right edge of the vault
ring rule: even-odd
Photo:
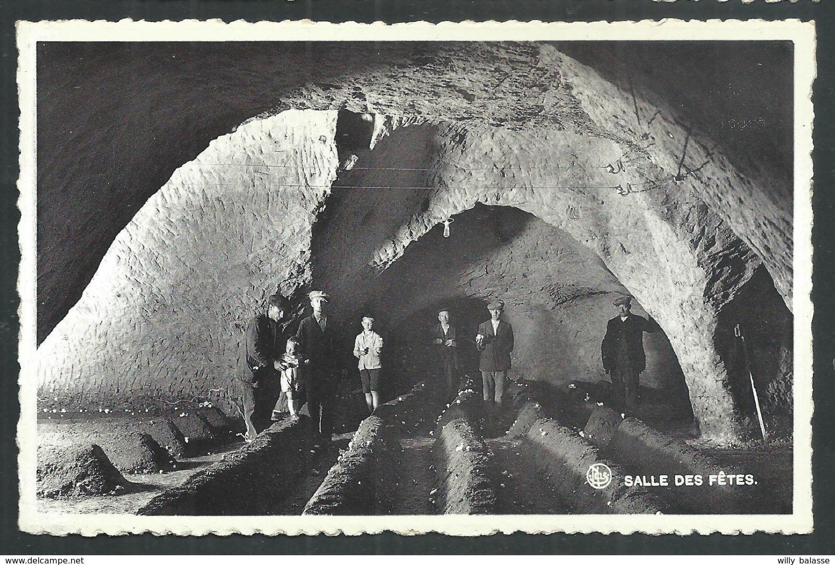
[[[692,118],[687,122],[676,116],[669,103],[630,98],[623,89],[590,74],[574,59],[555,50],[548,56],[555,57],[564,80],[571,84],[580,106],[600,128],[599,133],[634,144],[633,148],[644,147],[655,165],[655,171],[645,179],[653,179],[653,186],[677,192],[683,184],[689,185],[711,212],[757,253],[791,310],[793,198],[786,186],[790,179],[784,175],[772,177],[762,160],[749,160],[741,170],[735,168],[721,151],[716,151],[715,143],[694,130]],[[638,186],[639,190],[646,187]]]

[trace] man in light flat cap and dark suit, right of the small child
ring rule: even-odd
[[[296,331],[301,354],[310,359],[307,383],[307,410],[312,431],[323,439],[330,439],[333,409],[337,393],[337,348],[331,319],[326,315],[331,297],[321,290],[308,294],[313,313],[301,320]]]

